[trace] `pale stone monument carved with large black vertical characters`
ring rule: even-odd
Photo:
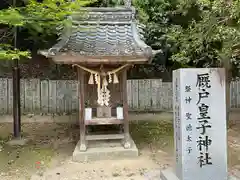
[[[227,180],[225,73],[220,68],[173,72],[176,167],[162,180]]]

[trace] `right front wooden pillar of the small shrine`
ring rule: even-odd
[[[122,71],[122,97],[123,97],[123,118],[124,118],[124,148],[131,147],[129,135],[129,119],[128,119],[128,100],[127,100],[127,68]]]

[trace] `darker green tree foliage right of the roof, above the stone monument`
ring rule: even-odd
[[[146,39],[187,66],[239,65],[239,0],[135,0]],[[160,63],[161,58],[156,59]],[[234,66],[237,67],[237,66]]]

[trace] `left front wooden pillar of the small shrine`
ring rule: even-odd
[[[85,127],[85,78],[84,71],[78,68],[79,80],[79,126],[80,126],[80,151],[86,151],[86,127]]]

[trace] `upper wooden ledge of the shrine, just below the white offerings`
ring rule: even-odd
[[[85,125],[111,125],[111,124],[123,124],[123,119],[117,119],[116,117],[110,118],[93,118],[86,120]]]

